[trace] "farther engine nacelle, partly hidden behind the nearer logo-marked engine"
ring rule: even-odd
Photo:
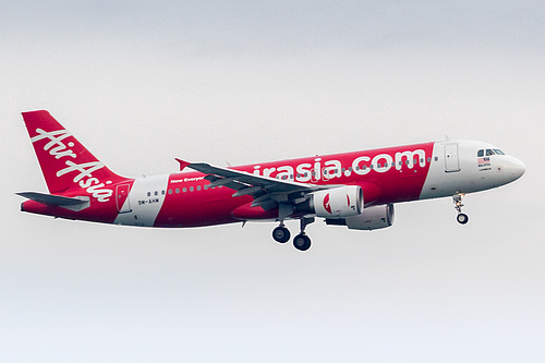
[[[328,225],[347,226],[349,229],[366,230],[387,228],[393,225],[393,204],[377,205],[363,209],[354,217],[326,219]]]

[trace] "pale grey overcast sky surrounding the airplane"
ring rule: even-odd
[[[542,1],[3,1],[0,360],[543,362]],[[511,185],[397,205],[387,230],[153,230],[20,213],[21,111],[124,176],[452,138]],[[289,223],[294,233],[296,222]]]

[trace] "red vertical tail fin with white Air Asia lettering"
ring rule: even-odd
[[[23,119],[50,193],[85,189],[104,202],[112,194],[109,184],[126,180],[100,162],[48,111],[23,112]]]

